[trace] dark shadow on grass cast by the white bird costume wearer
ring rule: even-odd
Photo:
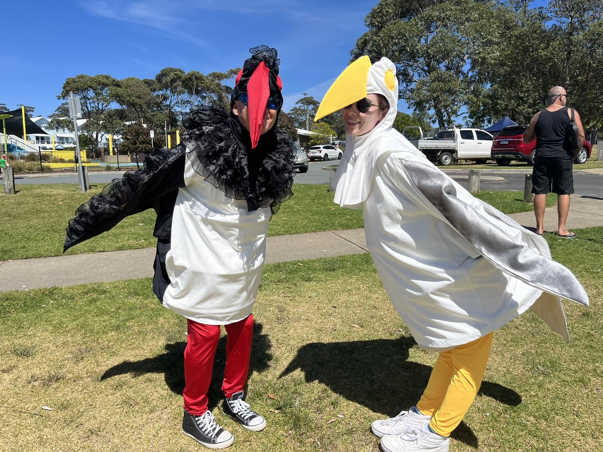
[[[431,374],[431,366],[408,361],[408,350],[414,345],[412,337],[315,342],[301,347],[279,378],[300,369],[306,382],[319,381],[347,400],[391,418],[417,403]],[[522,401],[513,389],[490,381],[482,382],[479,395],[511,406]],[[478,447],[477,437],[465,422],[452,432],[452,438]]]

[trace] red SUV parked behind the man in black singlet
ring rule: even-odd
[[[492,141],[490,155],[497,165],[507,166],[511,160],[524,160],[528,165],[534,165],[536,140],[531,143],[523,142],[523,132],[528,125],[511,125],[505,127]],[[584,140],[578,157],[573,163],[586,163],[590,157],[592,146],[589,140]]]

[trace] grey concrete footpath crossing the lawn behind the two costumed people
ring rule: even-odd
[[[510,216],[527,228],[535,225],[532,211]],[[567,224],[572,231],[603,226],[603,198],[573,195]],[[545,210],[545,230],[557,231],[556,206]],[[579,231],[577,234],[579,239]],[[295,234],[268,237],[266,262],[317,259],[366,251],[362,229]],[[142,248],[0,261],[0,292],[151,277],[154,254],[155,248]]]

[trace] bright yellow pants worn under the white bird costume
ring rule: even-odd
[[[417,409],[432,416],[429,427],[450,436],[461,423],[482,384],[494,332],[440,353]]]

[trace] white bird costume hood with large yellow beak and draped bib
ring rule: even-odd
[[[366,55],[353,61],[339,75],[318,107],[314,121],[341,110],[365,98],[369,94],[380,94],[390,104],[385,118],[370,132],[362,136],[346,135],[346,151],[339,169],[332,181],[335,188],[335,202],[340,206],[360,209],[367,198],[374,159],[381,151],[400,149],[409,145],[401,134],[393,130],[394,119],[398,113],[398,80],[396,66],[388,58],[382,57],[376,63]],[[375,140],[379,139],[379,145]],[[396,146],[391,140],[395,140]],[[371,152],[368,152],[368,150]],[[377,151],[377,152],[374,152]],[[367,160],[368,159],[368,160]]]

